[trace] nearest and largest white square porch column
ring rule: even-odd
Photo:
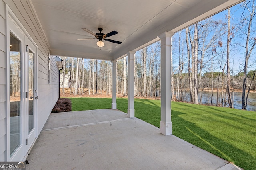
[[[164,32],[161,39],[161,121],[160,133],[172,134],[171,122],[171,37],[173,34]]]

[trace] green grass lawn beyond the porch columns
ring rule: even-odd
[[[72,111],[111,108],[111,98],[70,98]],[[127,113],[127,98],[117,109]],[[134,100],[135,117],[160,127],[160,100]],[[172,102],[172,133],[246,170],[256,169],[256,112]]]

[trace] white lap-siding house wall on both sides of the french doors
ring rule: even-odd
[[[56,65],[55,57],[51,57],[51,83],[48,83],[48,57],[50,54],[50,47],[47,43],[46,37],[41,29],[40,23],[37,20],[29,1],[10,1],[0,0],[0,161],[7,160],[7,96],[6,88],[8,82],[7,75],[7,61],[6,61],[6,5],[10,7],[12,12],[22,23],[26,32],[33,39],[38,46],[38,109],[37,109],[37,134],[42,130],[52,108],[58,100],[59,92],[59,75]]]

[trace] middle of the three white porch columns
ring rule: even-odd
[[[129,51],[128,55],[128,117],[134,117],[134,54],[135,51]]]

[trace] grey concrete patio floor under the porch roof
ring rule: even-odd
[[[50,114],[26,170],[237,170],[228,161],[112,109]]]

